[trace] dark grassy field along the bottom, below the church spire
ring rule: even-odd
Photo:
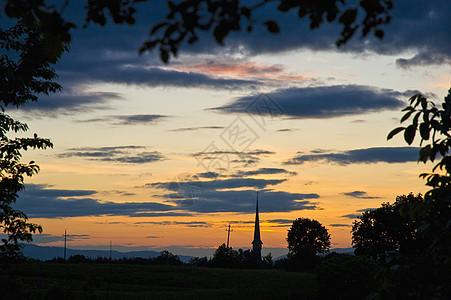
[[[315,276],[282,270],[33,262],[1,270],[1,299],[314,299]]]

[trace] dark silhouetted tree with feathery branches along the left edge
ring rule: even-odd
[[[0,11],[0,16],[2,12]],[[34,134],[22,138],[28,126],[6,114],[8,106],[20,107],[36,101],[37,95],[48,95],[61,87],[53,82],[56,73],[52,65],[67,50],[55,35],[43,30],[30,15],[17,16],[10,28],[0,28],[0,229],[8,235],[2,239],[2,260],[20,257],[20,242],[31,241],[32,233],[41,226],[29,223],[25,213],[12,207],[18,192],[24,189],[24,178],[39,171],[34,161],[23,163],[22,151],[52,147],[48,139]]]

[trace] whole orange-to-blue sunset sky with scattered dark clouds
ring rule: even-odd
[[[83,29],[69,6],[62,92],[6,111],[54,143],[24,155],[41,167],[16,205],[43,225],[36,244],[61,246],[67,229],[71,248],[207,255],[230,223],[231,246],[249,248],[258,189],[264,255],[287,251],[299,217],[344,248],[359,213],[427,190],[418,144],[386,137],[410,96],[450,88],[449,1],[396,1],[382,41],[339,49],[336,24],[310,31],[268,5],[259,18],[280,34],[205,35],[167,65],[138,54],[164,6],[138,11],[135,26]]]

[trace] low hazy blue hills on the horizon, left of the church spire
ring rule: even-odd
[[[51,260],[56,257],[63,257],[64,248],[63,247],[50,247],[50,246],[38,246],[34,244],[25,244],[22,249],[23,254],[26,257],[31,257],[39,260]],[[66,258],[69,258],[72,255],[84,255],[89,258],[97,258],[97,257],[110,257],[109,250],[78,250],[78,249],[66,249]],[[176,253],[174,253],[176,254]],[[111,251],[111,258],[119,259],[119,258],[151,258],[160,255],[160,252],[157,251],[130,251],[130,252],[120,252],[120,251]],[[179,255],[179,258],[183,262],[188,262],[192,256]]]

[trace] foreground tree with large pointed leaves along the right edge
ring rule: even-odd
[[[420,174],[431,188],[424,195],[424,201],[400,208],[401,215],[415,221],[418,236],[429,241],[427,247],[420,255],[400,253],[390,257],[382,297],[404,294],[411,299],[450,299],[451,89],[441,107],[417,94],[410,98],[403,111],[406,113],[401,123],[410,118],[412,123],[394,129],[387,138],[403,132],[404,140],[410,145],[419,133],[419,161],[439,162],[432,173]]]

